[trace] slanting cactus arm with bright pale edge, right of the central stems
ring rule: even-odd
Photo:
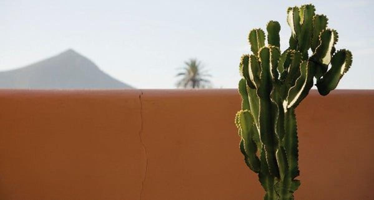
[[[287,108],[297,107],[313,87],[313,63],[303,61],[300,65],[300,73],[295,85],[288,92]]]

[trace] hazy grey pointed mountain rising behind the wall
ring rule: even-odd
[[[67,50],[46,60],[0,72],[0,88],[128,89],[131,86],[102,72],[91,60]]]

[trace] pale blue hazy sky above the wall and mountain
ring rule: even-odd
[[[335,47],[352,51],[338,88],[374,89],[373,0],[1,0],[0,70],[71,48],[135,88],[175,88],[175,74],[190,58],[209,70],[214,88],[236,88],[249,31],[277,20],[285,50],[286,9],[306,3],[338,31]]]

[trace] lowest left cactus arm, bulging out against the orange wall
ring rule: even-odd
[[[260,160],[258,159],[257,144],[254,141],[254,134],[252,127],[254,121],[250,111],[240,111],[239,113],[240,128],[242,129],[243,147],[246,155],[248,166],[252,171],[258,173],[260,171]]]

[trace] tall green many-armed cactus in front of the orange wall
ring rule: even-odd
[[[249,33],[253,54],[240,60],[242,110],[235,124],[240,151],[246,165],[258,173],[266,200],[294,199],[300,186],[295,179],[299,175],[295,108],[308,95],[314,79],[319,93],[327,95],[352,64],[350,51],[335,52],[338,34],[327,28],[327,21],[325,15],[315,14],[311,4],[288,8],[292,34],[283,53],[278,22],[267,23],[267,46],[264,31]]]

